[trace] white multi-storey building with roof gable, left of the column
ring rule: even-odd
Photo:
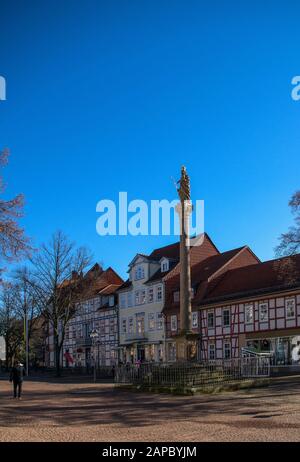
[[[120,361],[165,360],[164,276],[176,260],[138,254],[118,290]]]

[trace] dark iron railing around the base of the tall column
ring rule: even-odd
[[[269,375],[269,358],[237,358],[199,363],[141,363],[117,366],[115,383],[206,387]]]

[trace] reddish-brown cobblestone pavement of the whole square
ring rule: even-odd
[[[193,397],[63,381],[26,381],[18,401],[1,380],[0,441],[300,441],[300,377]]]

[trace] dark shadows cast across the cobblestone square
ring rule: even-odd
[[[7,386],[4,393],[0,390],[2,427],[26,424],[138,427],[168,425],[170,421],[211,425],[222,423],[222,417],[227,415],[239,419],[227,418],[226,425],[237,428],[247,422],[251,426],[249,419],[253,419],[253,426],[263,428],[271,424],[270,418],[290,412],[280,409],[282,403],[300,406],[299,380],[275,383],[264,389],[191,397],[134,393],[114,388],[109,382],[91,385],[74,382],[74,378],[73,381],[29,378],[24,383],[24,399],[20,402],[10,400],[9,391]],[[218,415],[220,420],[212,420]],[[272,421],[274,428],[277,425],[284,424]]]

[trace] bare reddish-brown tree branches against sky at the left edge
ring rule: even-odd
[[[9,151],[0,151],[0,168],[8,162]],[[5,190],[3,178],[0,176],[0,193]],[[13,199],[0,199],[0,259],[13,261],[28,256],[29,239],[19,226],[18,220],[23,216],[24,196],[18,194]]]

